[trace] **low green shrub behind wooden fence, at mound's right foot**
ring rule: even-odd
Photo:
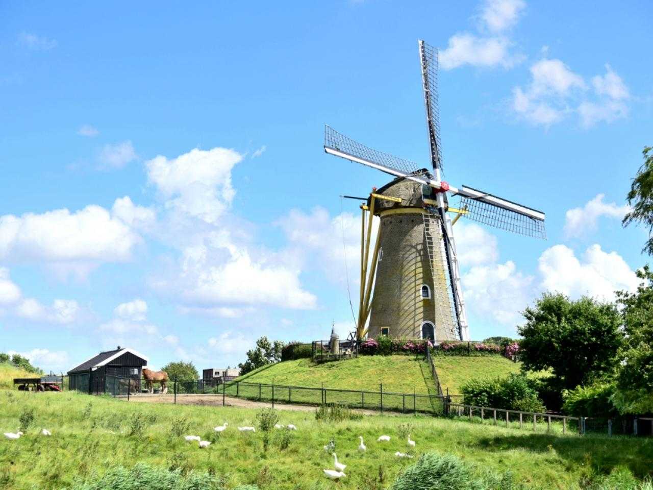
[[[543,412],[542,400],[532,383],[523,374],[510,374],[506,378],[470,380],[460,387],[463,402],[468,405]]]

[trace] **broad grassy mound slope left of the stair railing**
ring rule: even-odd
[[[355,389],[396,393],[434,393],[430,370],[421,357],[410,355],[359,355],[332,363],[314,364],[311,359],[284,361],[246,374],[239,381],[319,388]]]

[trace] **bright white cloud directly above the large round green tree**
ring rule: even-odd
[[[582,261],[570,248],[555,245],[539,257],[541,287],[571,297],[587,295],[601,301],[614,301],[614,291],[634,291],[639,284],[635,272],[616,252],[603,252],[599,244],[590,246]]]

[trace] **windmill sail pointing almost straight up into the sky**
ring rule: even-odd
[[[434,169],[442,171],[442,146],[440,140],[440,115],[438,105],[438,49],[419,41],[419,57],[422,65],[422,88],[426,108],[426,126]],[[438,175],[439,178],[439,175]]]

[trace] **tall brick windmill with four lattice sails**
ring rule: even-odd
[[[463,216],[546,238],[541,211],[443,180],[438,114],[438,50],[419,41],[431,169],[368,148],[325,127],[325,152],[394,176],[360,206],[358,340],[369,335],[470,340],[453,225]],[[459,197],[457,207],[450,197]],[[455,214],[451,220],[450,214]],[[379,227],[370,254],[372,218]],[[374,287],[374,292],[372,288]],[[368,324],[369,319],[369,324]],[[368,327],[366,327],[368,325]]]

